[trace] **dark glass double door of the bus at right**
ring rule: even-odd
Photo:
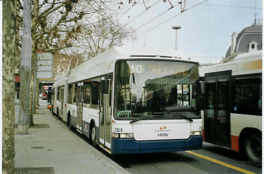
[[[231,70],[205,74],[204,138],[224,147],[231,147],[230,79]]]

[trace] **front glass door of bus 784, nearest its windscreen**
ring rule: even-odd
[[[112,80],[108,80],[108,94],[101,94],[100,104],[100,146],[108,151],[111,150],[111,98]]]

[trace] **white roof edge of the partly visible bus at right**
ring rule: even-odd
[[[232,75],[262,73],[262,50],[240,54],[234,62],[200,67],[199,76],[226,70],[232,70]]]

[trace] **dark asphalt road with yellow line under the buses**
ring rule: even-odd
[[[46,104],[47,100],[39,100]],[[54,115],[54,118],[57,117]],[[74,132],[80,139],[88,143],[88,139],[75,130],[70,130],[67,124],[58,120],[64,129]],[[245,160],[240,153],[203,143],[201,150],[187,152],[166,152],[151,154],[110,155],[100,147],[97,149],[115,161],[130,173],[262,173],[262,163]]]

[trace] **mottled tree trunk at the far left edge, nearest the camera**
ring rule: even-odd
[[[3,1],[2,173],[15,173],[16,1]]]

